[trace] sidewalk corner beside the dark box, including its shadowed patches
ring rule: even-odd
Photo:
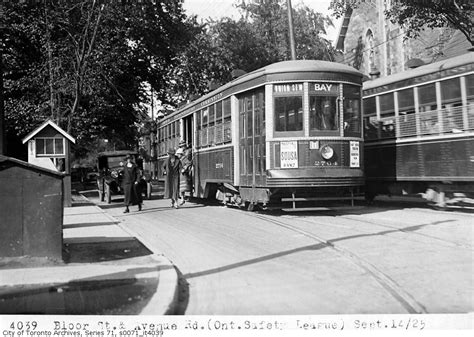
[[[171,262],[98,206],[73,196],[63,238],[63,261],[0,258],[0,313],[173,313]]]

